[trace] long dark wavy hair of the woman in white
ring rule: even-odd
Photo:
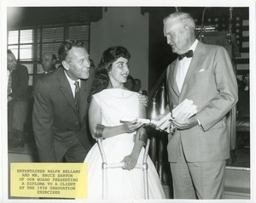
[[[113,62],[115,62],[120,57],[130,59],[131,55],[126,48],[120,46],[108,48],[103,52],[101,62],[99,67],[96,69],[95,78],[92,82],[89,101],[93,94],[99,93],[103,89],[108,88],[108,72],[111,70]]]

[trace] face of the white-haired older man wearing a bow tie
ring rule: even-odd
[[[173,20],[166,20],[164,34],[173,53],[184,54],[188,51],[189,36],[183,25],[177,24]]]

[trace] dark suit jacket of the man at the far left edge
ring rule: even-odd
[[[28,99],[28,71],[25,65],[17,64],[17,68],[12,71],[12,93],[9,94],[13,99]]]

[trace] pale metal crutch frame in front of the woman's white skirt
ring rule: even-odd
[[[99,146],[101,155],[102,155],[102,198],[108,199],[108,176],[107,170],[108,168],[120,168],[124,166],[123,162],[119,163],[107,163],[107,158],[102,146],[102,138],[96,138],[97,144]],[[137,163],[134,169],[142,169],[143,170],[143,182],[144,182],[144,196],[145,199],[148,199],[148,149],[149,149],[150,140],[148,138],[147,144],[145,147],[144,155],[143,155],[143,163]]]

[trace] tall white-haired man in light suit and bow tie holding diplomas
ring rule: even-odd
[[[197,41],[189,14],[167,16],[164,34],[172,52],[179,54],[167,69],[169,108],[184,99],[197,106],[187,121],[172,121],[177,130],[169,134],[167,151],[174,198],[221,199],[230,157],[226,115],[238,98],[230,56],[223,47]]]

